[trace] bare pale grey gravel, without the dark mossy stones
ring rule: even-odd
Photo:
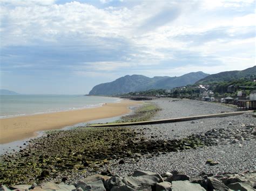
[[[236,111],[234,108],[216,103],[173,100],[172,98],[161,98],[150,101],[162,108],[154,119],[216,114],[221,111]],[[255,118],[252,117],[252,114],[199,119],[193,122],[131,126],[130,128],[143,131],[149,139],[180,139],[193,134],[205,133],[212,129],[241,130],[248,124],[256,126]],[[159,154],[152,157],[150,154],[144,155],[137,161],[126,159],[125,164],[122,165],[119,165],[118,161],[113,161],[109,169],[113,174],[119,174],[121,176],[129,175],[137,169],[158,173],[177,170],[188,175],[198,175],[201,172],[217,174],[220,172],[241,173],[246,170],[256,170],[255,139],[245,140],[242,146],[240,143],[223,144],[198,148],[196,150]],[[215,166],[207,165],[207,159],[218,161],[219,164]]]

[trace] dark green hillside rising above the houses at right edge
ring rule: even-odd
[[[242,77],[250,78],[252,75],[256,76],[256,66],[247,68],[245,70],[234,70],[208,75],[196,83],[207,84],[212,82],[231,81],[240,79]]]

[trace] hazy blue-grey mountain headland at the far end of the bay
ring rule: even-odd
[[[186,86],[204,78],[209,74],[192,72],[179,77],[144,75],[126,75],[113,82],[98,84],[93,87],[89,95],[113,95],[124,94],[131,91],[143,91],[149,89],[166,89]]]

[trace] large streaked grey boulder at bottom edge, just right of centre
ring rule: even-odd
[[[156,185],[157,182],[163,182],[159,174],[143,175],[143,176],[126,176],[123,179],[125,185],[133,189],[151,189],[151,186]]]

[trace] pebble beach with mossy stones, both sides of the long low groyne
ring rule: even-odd
[[[159,108],[151,119],[236,111],[218,103],[186,99],[159,98],[146,101],[146,104],[157,105]],[[126,177],[136,171],[157,174],[177,171],[193,177],[200,174],[251,173],[256,170],[256,124],[252,114],[88,130],[90,129],[80,127],[50,133],[33,139],[23,151],[12,154],[12,157],[2,156],[2,160],[18,160],[25,156],[32,161],[39,156],[41,163],[45,164],[40,166],[45,170],[39,170],[41,175],[37,175],[34,181],[28,175],[30,182],[61,182],[64,178],[65,183],[72,185],[95,174]],[[66,139],[70,145],[58,145],[65,144],[60,140]],[[84,147],[80,148],[81,145]],[[66,154],[56,158],[54,150],[62,146],[65,149],[58,150],[58,154]],[[89,147],[92,149],[89,150]],[[93,150],[94,147],[96,150]],[[43,151],[42,155],[38,155],[38,151]],[[33,155],[37,157],[33,158]],[[90,156],[92,159],[88,161]],[[59,165],[56,166],[56,163]],[[20,180],[16,184],[28,183],[22,181],[22,178]]]

